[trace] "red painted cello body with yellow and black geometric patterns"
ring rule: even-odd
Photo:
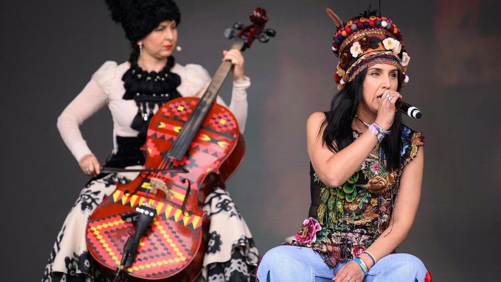
[[[158,110],[150,121],[147,140],[142,147],[147,153],[145,167],[159,166],[162,152],[168,151],[199,100],[178,98]],[[208,217],[200,207],[214,186],[224,185],[237,170],[244,151],[235,117],[227,108],[213,104],[188,153],[173,163],[173,167],[184,167],[189,172],[157,175],[165,179],[172,198],[168,199],[162,192],[147,193],[151,190],[151,177],[141,173],[130,183],[118,183],[115,192],[95,209],[89,218],[87,233],[92,256],[99,257],[105,267],[115,269],[120,264],[119,254],[128,232],[134,228],[121,216],[147,202],[155,206],[157,215],[140,243],[136,261],[127,272],[144,279],[194,279],[202,267],[204,234],[207,233],[204,228],[208,227]],[[185,179],[189,182],[183,182]],[[190,192],[183,211],[188,185]]]

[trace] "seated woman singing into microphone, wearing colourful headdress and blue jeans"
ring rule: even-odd
[[[340,90],[306,123],[311,165],[309,218],[295,240],[268,251],[260,281],[423,281],[417,257],[396,254],[419,204],[423,137],[395,103],[408,81],[400,30],[377,11],[337,26]],[[431,279],[431,277],[429,277]]]

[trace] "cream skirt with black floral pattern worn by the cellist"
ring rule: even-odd
[[[87,219],[101,201],[137,173],[109,174],[88,182],[57,234],[42,282],[108,281],[87,251]],[[259,259],[251,232],[228,192],[216,189],[205,200],[210,218],[202,275],[197,281],[254,281]]]

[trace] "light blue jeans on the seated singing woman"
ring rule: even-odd
[[[319,253],[310,248],[295,246],[275,247],[264,254],[257,276],[260,282],[329,282],[345,264],[328,267]],[[363,282],[424,281],[427,269],[419,258],[409,254],[391,254],[376,262]]]

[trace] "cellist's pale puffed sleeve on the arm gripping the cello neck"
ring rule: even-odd
[[[201,97],[207,87],[209,86],[211,77],[208,71],[201,65],[187,64],[186,68],[186,81],[190,84],[190,92],[196,93],[196,97]],[[232,100],[229,106],[224,103],[223,99],[218,96],[216,102],[222,106],[227,107],[235,116],[243,133],[245,129],[245,122],[247,121],[247,91],[246,89],[251,86],[251,80],[244,77],[241,81],[233,81]]]

